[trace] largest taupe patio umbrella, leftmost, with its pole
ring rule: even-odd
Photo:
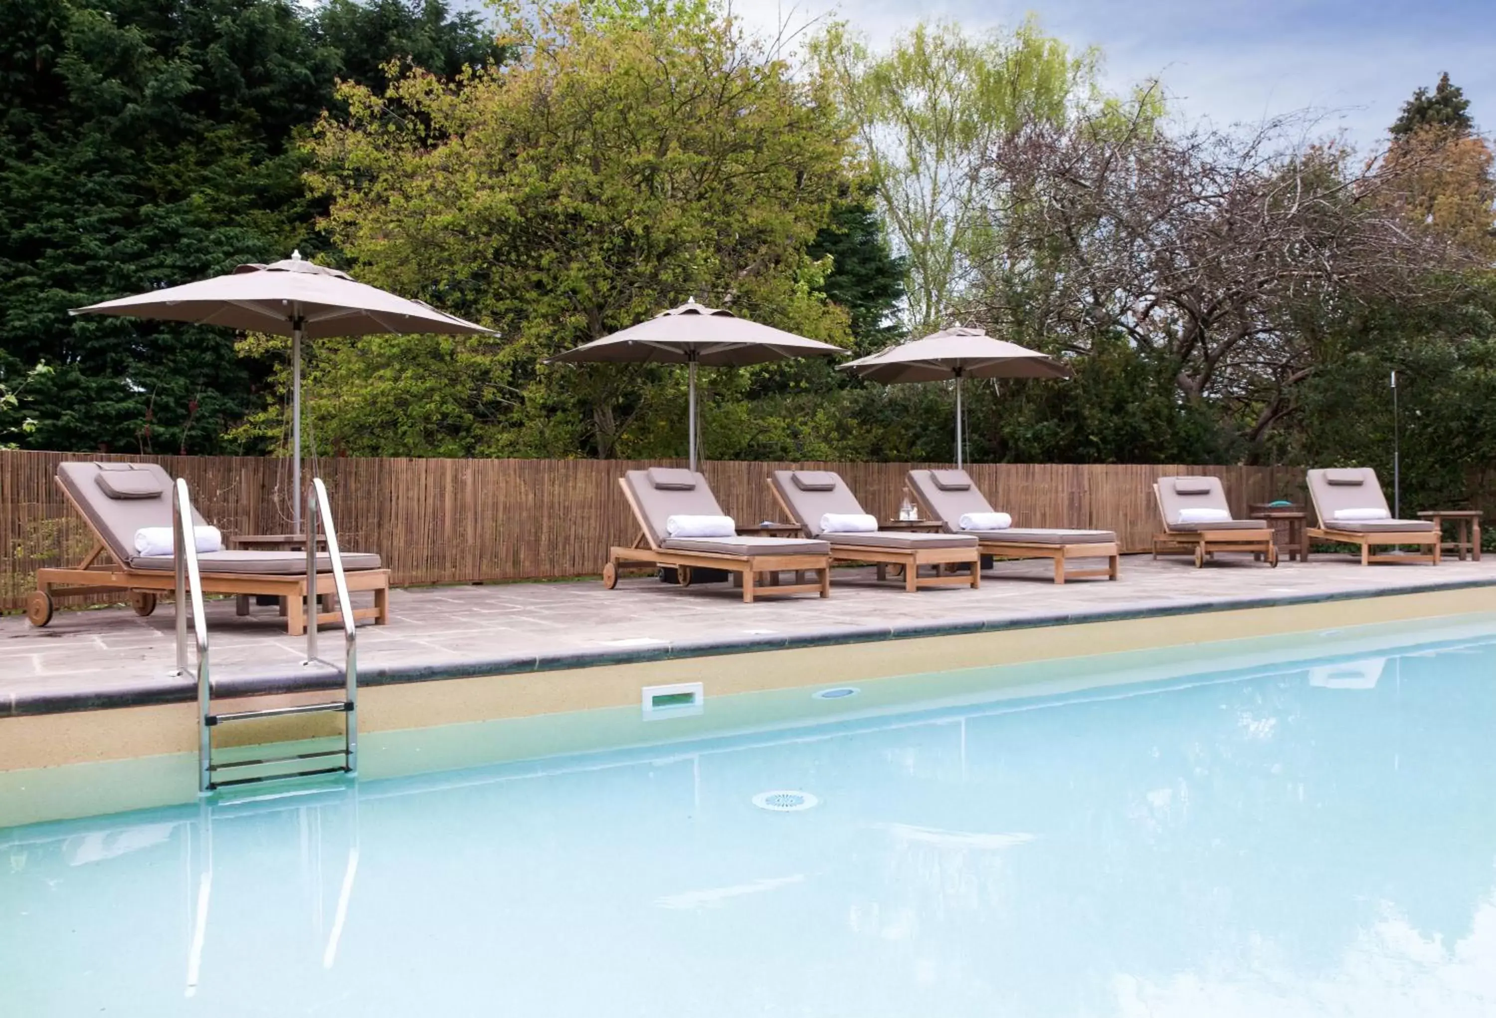
[[[227,275],[105,300],[69,314],[112,314],[290,336],[292,456],[296,490],[292,525],[301,532],[301,341],[380,332],[492,332],[355,281],[347,272],[304,262],[299,251],[271,265],[241,265]]]

